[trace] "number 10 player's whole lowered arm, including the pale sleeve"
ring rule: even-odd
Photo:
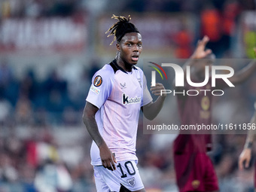
[[[113,74],[114,72],[111,67],[105,65],[93,75],[92,84],[86,99],[87,103],[83,112],[84,124],[93,141],[99,148],[102,166],[110,170],[115,169],[115,158],[99,133],[99,127],[96,123],[96,113],[99,111],[99,108],[104,105],[111,93],[111,77]]]

